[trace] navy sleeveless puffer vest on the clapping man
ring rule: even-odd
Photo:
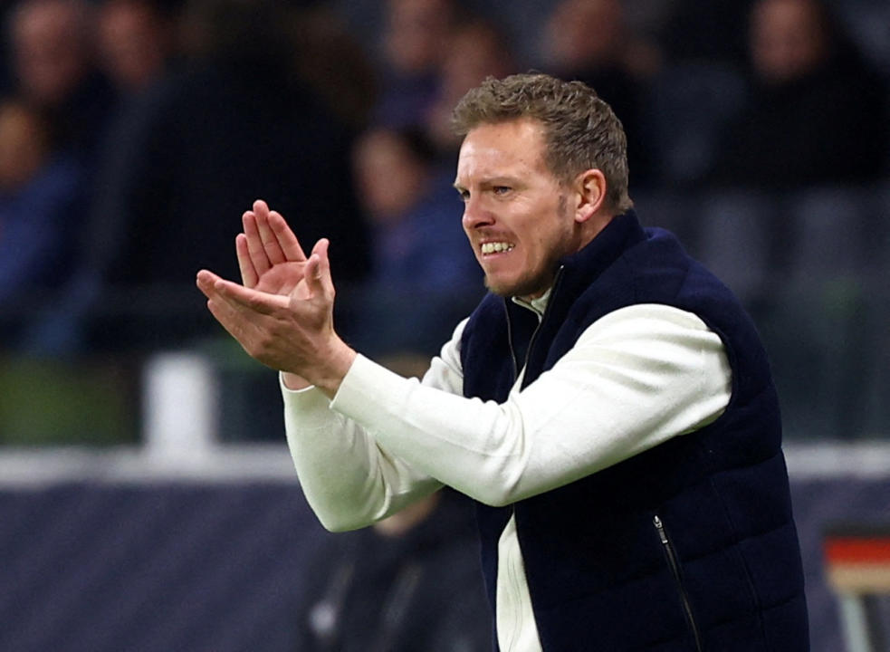
[[[504,401],[522,360],[525,386],[591,323],[639,303],[694,312],[721,337],[732,366],[728,408],[707,427],[546,494],[479,503],[490,597],[497,542],[515,514],[546,652],[809,650],[769,364],[732,292],[673,235],[644,230],[633,211],[617,216],[562,261],[540,327],[530,311],[485,297],[464,330],[464,395]]]

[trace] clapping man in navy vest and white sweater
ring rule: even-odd
[[[202,271],[215,317],[282,369],[297,473],[356,528],[447,484],[477,501],[507,650],[806,650],[775,389],[751,321],[627,196],[608,105],[546,75],[455,109],[455,187],[490,293],[422,382],[331,323],[309,258],[262,202],[244,286]]]

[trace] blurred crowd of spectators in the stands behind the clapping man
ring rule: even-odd
[[[486,76],[530,69],[613,106],[641,220],[678,231],[753,311],[791,292],[797,251],[808,278],[890,269],[884,3],[525,0],[503,14],[469,0],[5,3],[0,349],[132,356],[217,336],[195,273],[238,277],[234,235],[262,197],[304,246],[330,238],[349,340],[435,352],[483,292],[450,110]],[[827,259],[838,243],[847,257]],[[793,321],[765,314],[768,333]]]

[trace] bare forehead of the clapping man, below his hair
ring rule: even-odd
[[[482,124],[464,138],[457,180],[477,175],[546,172],[544,128],[531,119]]]

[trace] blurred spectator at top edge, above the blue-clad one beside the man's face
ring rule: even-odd
[[[375,122],[421,124],[435,100],[455,25],[454,0],[388,0]]]

